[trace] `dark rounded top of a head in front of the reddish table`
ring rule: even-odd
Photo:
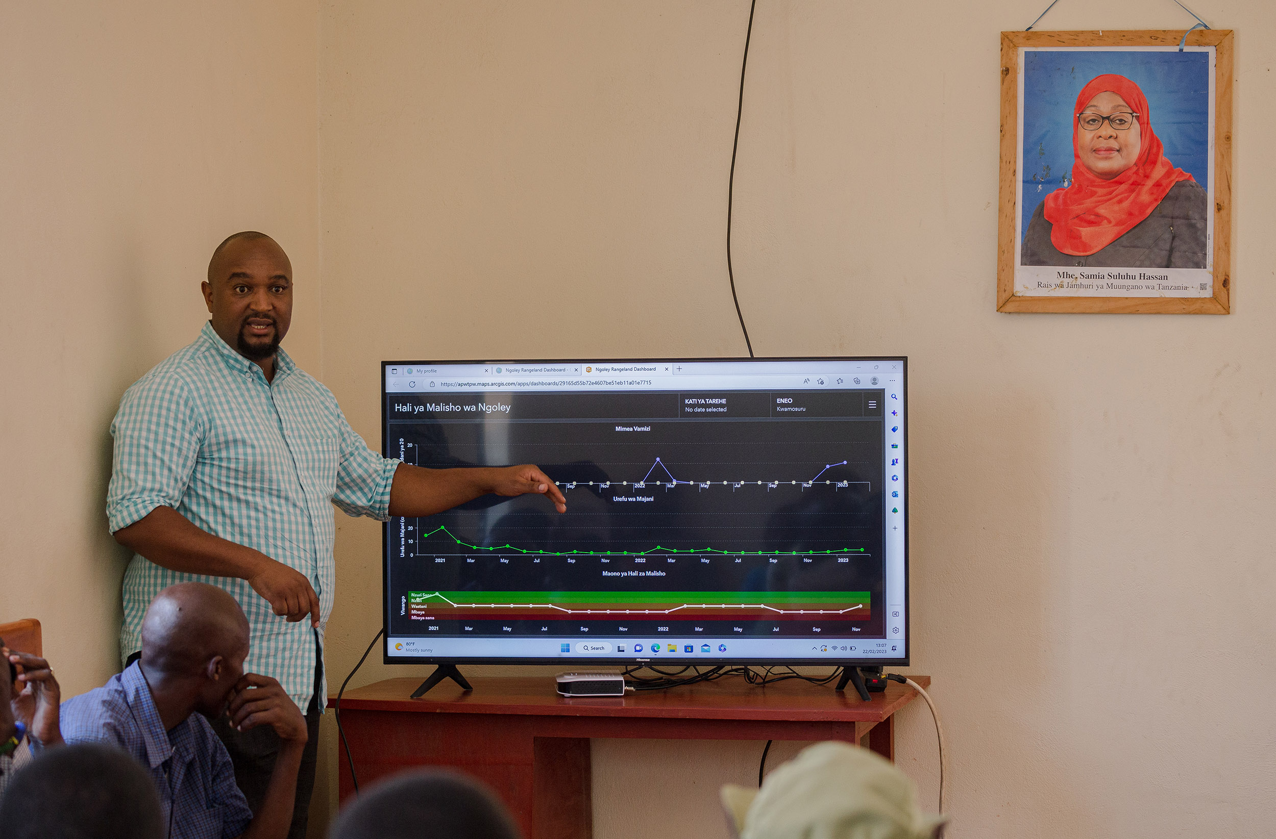
[[[519,839],[519,833],[505,805],[478,782],[415,770],[360,794],[329,839]]]

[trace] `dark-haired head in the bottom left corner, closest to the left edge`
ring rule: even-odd
[[[6,839],[161,839],[166,826],[147,771],[103,743],[42,752],[0,801]]]

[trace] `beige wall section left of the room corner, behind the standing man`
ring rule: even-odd
[[[316,24],[310,0],[0,6],[0,620],[41,618],[66,695],[119,669],[111,417],[194,340],[226,235],[288,250],[318,372]]]

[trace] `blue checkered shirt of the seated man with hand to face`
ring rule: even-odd
[[[213,727],[199,714],[165,731],[142,668],[131,664],[105,686],[74,696],[60,709],[69,743],[102,742],[133,755],[160,793],[171,839],[228,839],[253,821],[235,766]]]

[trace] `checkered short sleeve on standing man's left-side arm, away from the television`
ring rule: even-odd
[[[158,506],[177,509],[202,434],[194,399],[180,379],[148,375],[125,391],[111,422],[115,445],[106,493],[111,533]]]

